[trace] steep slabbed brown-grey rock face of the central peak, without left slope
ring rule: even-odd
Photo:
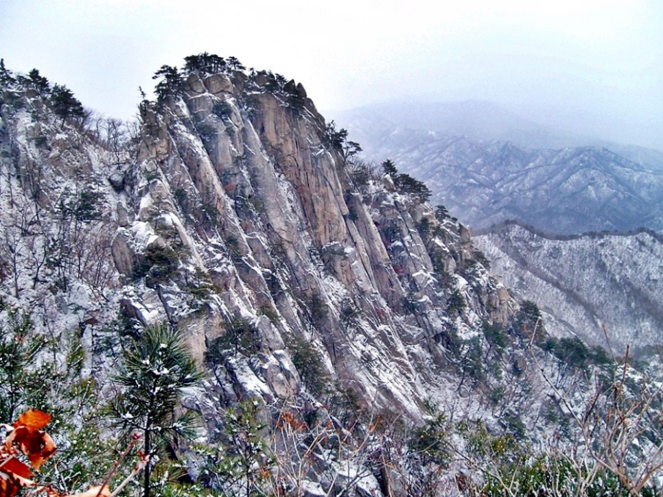
[[[216,291],[200,316],[167,304],[180,300],[182,285],[170,295],[159,285],[157,310],[184,319],[200,352],[224,333],[222,323],[255,322],[261,359],[251,371],[269,395],[299,389],[284,352],[289,337],[299,337],[371,407],[417,415],[427,383],[439,381],[421,368],[423,358],[444,355],[437,340],[457,330],[477,334],[485,320],[505,323],[513,302],[480,267],[473,285],[461,277],[443,288],[417,230],[423,217],[437,228],[430,209],[381,185],[356,191],[303,88],[266,90],[269,75],[262,77],[192,74],[182,99],[159,114],[145,110],[143,178],[131,193],[141,208],[118,236],[139,233],[135,223],[172,221],[177,235],[167,245],[187,247],[184,265],[209,274]],[[292,95],[301,106],[289,103]],[[463,228],[451,222],[439,228],[445,241],[428,243],[439,245],[447,266],[472,260],[469,233],[461,237]],[[456,288],[469,306],[452,317],[445,304]],[[131,300],[143,299],[138,292]],[[265,317],[266,308],[276,319]]]

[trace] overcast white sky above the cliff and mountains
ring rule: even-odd
[[[663,149],[662,0],[0,0],[0,57],[106,115],[193,53],[302,82],[321,109],[484,99]]]

